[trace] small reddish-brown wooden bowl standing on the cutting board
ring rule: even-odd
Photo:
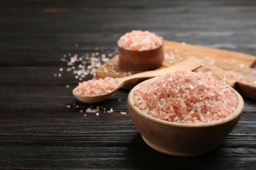
[[[163,44],[153,50],[132,51],[119,47],[119,63],[125,69],[152,70],[163,62]]]

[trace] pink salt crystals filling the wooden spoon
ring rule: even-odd
[[[88,80],[79,82],[74,93],[81,96],[97,96],[110,93],[118,86],[118,82],[112,77],[100,78],[98,80]]]

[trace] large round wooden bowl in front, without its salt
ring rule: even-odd
[[[167,122],[145,114],[133,105],[135,88],[128,95],[129,113],[135,126],[148,146],[171,156],[197,156],[214,150],[234,129],[244,109],[244,100],[234,91],[238,106],[223,120],[203,124]]]

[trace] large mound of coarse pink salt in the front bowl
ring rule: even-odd
[[[230,88],[192,71],[167,73],[140,84],[133,101],[146,114],[186,124],[221,120],[234,112],[238,103]]]

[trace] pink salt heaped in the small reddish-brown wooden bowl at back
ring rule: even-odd
[[[117,44],[125,50],[145,51],[160,47],[163,44],[163,39],[149,31],[133,30],[121,36]]]

